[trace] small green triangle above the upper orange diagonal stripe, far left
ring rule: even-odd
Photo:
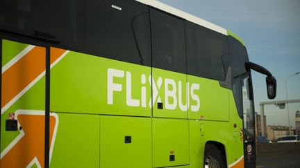
[[[12,58],[24,50],[28,44],[18,43],[15,41],[2,40],[2,66],[5,66]]]

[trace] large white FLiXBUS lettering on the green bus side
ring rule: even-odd
[[[174,110],[179,107],[181,111],[186,111],[187,109],[191,109],[191,111],[199,111],[200,99],[199,95],[195,94],[195,92],[199,91],[200,89],[199,84],[190,84],[189,82],[186,82],[185,86],[183,86],[183,82],[181,80],[176,81],[167,77],[158,77],[158,79],[155,80],[151,75],[148,75],[147,77],[147,75],[142,74],[140,75],[140,84],[138,84],[138,86],[141,87],[137,88],[135,86],[136,84],[132,83],[131,75],[132,74],[129,71],[108,68],[108,104],[114,105],[114,95],[126,93],[126,97],[124,96],[124,101],[126,100],[127,106],[147,107],[148,104],[149,108],[152,108],[156,102],[164,102],[165,109],[167,110]],[[122,82],[116,82],[118,79],[124,78],[126,80],[126,84],[122,84]],[[147,86],[152,87],[152,96],[147,95]],[[140,90],[140,97],[133,98],[133,89]],[[160,90],[164,90],[165,92],[162,94],[160,93]],[[186,97],[184,95],[185,93]],[[147,102],[147,96],[149,97],[149,102]],[[189,97],[191,97],[192,100],[190,100]],[[194,105],[190,105],[190,101]]]

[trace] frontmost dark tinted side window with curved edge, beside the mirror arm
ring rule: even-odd
[[[249,62],[246,48],[237,39],[229,36],[229,50],[231,56],[232,77],[246,72],[245,62]]]

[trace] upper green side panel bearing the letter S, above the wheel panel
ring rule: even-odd
[[[190,106],[188,109],[189,119],[228,121],[228,89],[219,86],[219,82],[202,77],[188,75],[188,82],[199,84],[199,89],[190,88]],[[199,99],[195,97],[199,95]],[[197,106],[199,101],[199,107]],[[192,106],[197,111],[192,110]]]

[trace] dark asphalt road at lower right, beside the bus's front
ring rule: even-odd
[[[257,168],[300,168],[300,153],[257,158]]]

